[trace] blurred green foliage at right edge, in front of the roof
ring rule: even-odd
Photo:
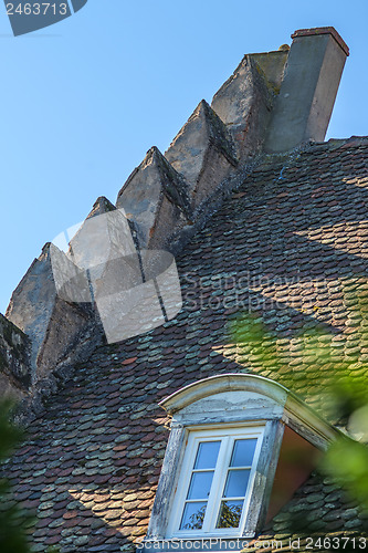
[[[243,314],[235,322],[233,337],[236,344],[244,346],[255,372],[274,373],[275,379],[291,390],[297,384],[307,390],[307,399],[318,405],[324,416],[348,429],[355,439],[341,435],[323,456],[318,470],[368,512],[368,385],[365,367],[358,364],[357,356],[347,358],[344,353],[336,353],[339,336],[336,338],[332,332],[320,328],[299,334],[293,344],[292,340],[283,340],[281,353],[276,334],[251,314]],[[291,346],[295,347],[295,343],[302,364],[314,365],[314,373],[320,376],[312,379],[306,371],[285,371],[293,359]]]

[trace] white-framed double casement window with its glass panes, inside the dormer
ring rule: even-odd
[[[189,432],[169,533],[239,533],[244,526],[264,427]]]

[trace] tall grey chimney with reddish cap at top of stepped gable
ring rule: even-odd
[[[281,153],[323,142],[349,49],[333,27],[292,34],[284,80],[269,126],[265,150]]]

